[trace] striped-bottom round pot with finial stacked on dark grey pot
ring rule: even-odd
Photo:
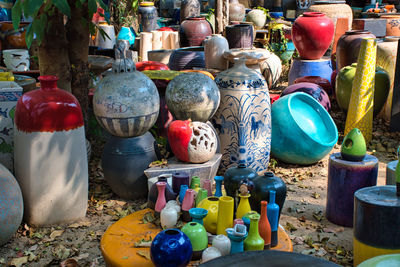
[[[151,79],[125,57],[128,47],[128,41],[118,41],[120,59],[98,84],[93,107],[97,121],[111,134],[102,155],[104,178],[120,197],[136,199],[147,196],[143,171],[157,160],[148,130],[157,120],[160,98]]]

